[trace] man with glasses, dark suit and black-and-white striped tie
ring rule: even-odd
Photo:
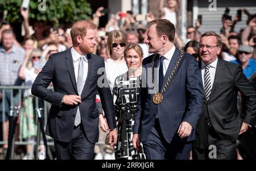
[[[235,159],[238,135],[254,125],[256,91],[240,65],[218,59],[221,39],[205,32],[200,39],[204,105],[193,142],[193,159]],[[238,91],[245,97],[242,119],[238,115]]]

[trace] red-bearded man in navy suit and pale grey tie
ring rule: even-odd
[[[52,103],[46,134],[54,139],[57,159],[92,159],[98,141],[97,90],[110,128],[110,141],[112,145],[117,141],[110,89],[97,84],[98,78],[104,77],[98,69],[105,70],[105,65],[100,56],[92,54],[96,28],[87,20],[73,24],[73,47],[53,53],[32,86],[33,95]],[[51,82],[54,91],[47,89]]]

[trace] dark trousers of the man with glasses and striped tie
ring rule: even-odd
[[[234,160],[236,159],[236,141],[225,141],[216,133],[213,127],[209,128],[209,148],[192,149],[193,160]]]

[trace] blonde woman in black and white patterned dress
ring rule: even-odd
[[[115,79],[113,98],[117,117],[118,139],[115,159],[145,159],[143,149],[133,147],[134,113],[141,85],[143,51],[138,44],[130,44],[124,51],[128,71]]]

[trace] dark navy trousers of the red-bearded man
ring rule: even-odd
[[[73,128],[72,139],[68,143],[54,140],[58,160],[92,160],[95,143],[90,143],[82,124]]]

